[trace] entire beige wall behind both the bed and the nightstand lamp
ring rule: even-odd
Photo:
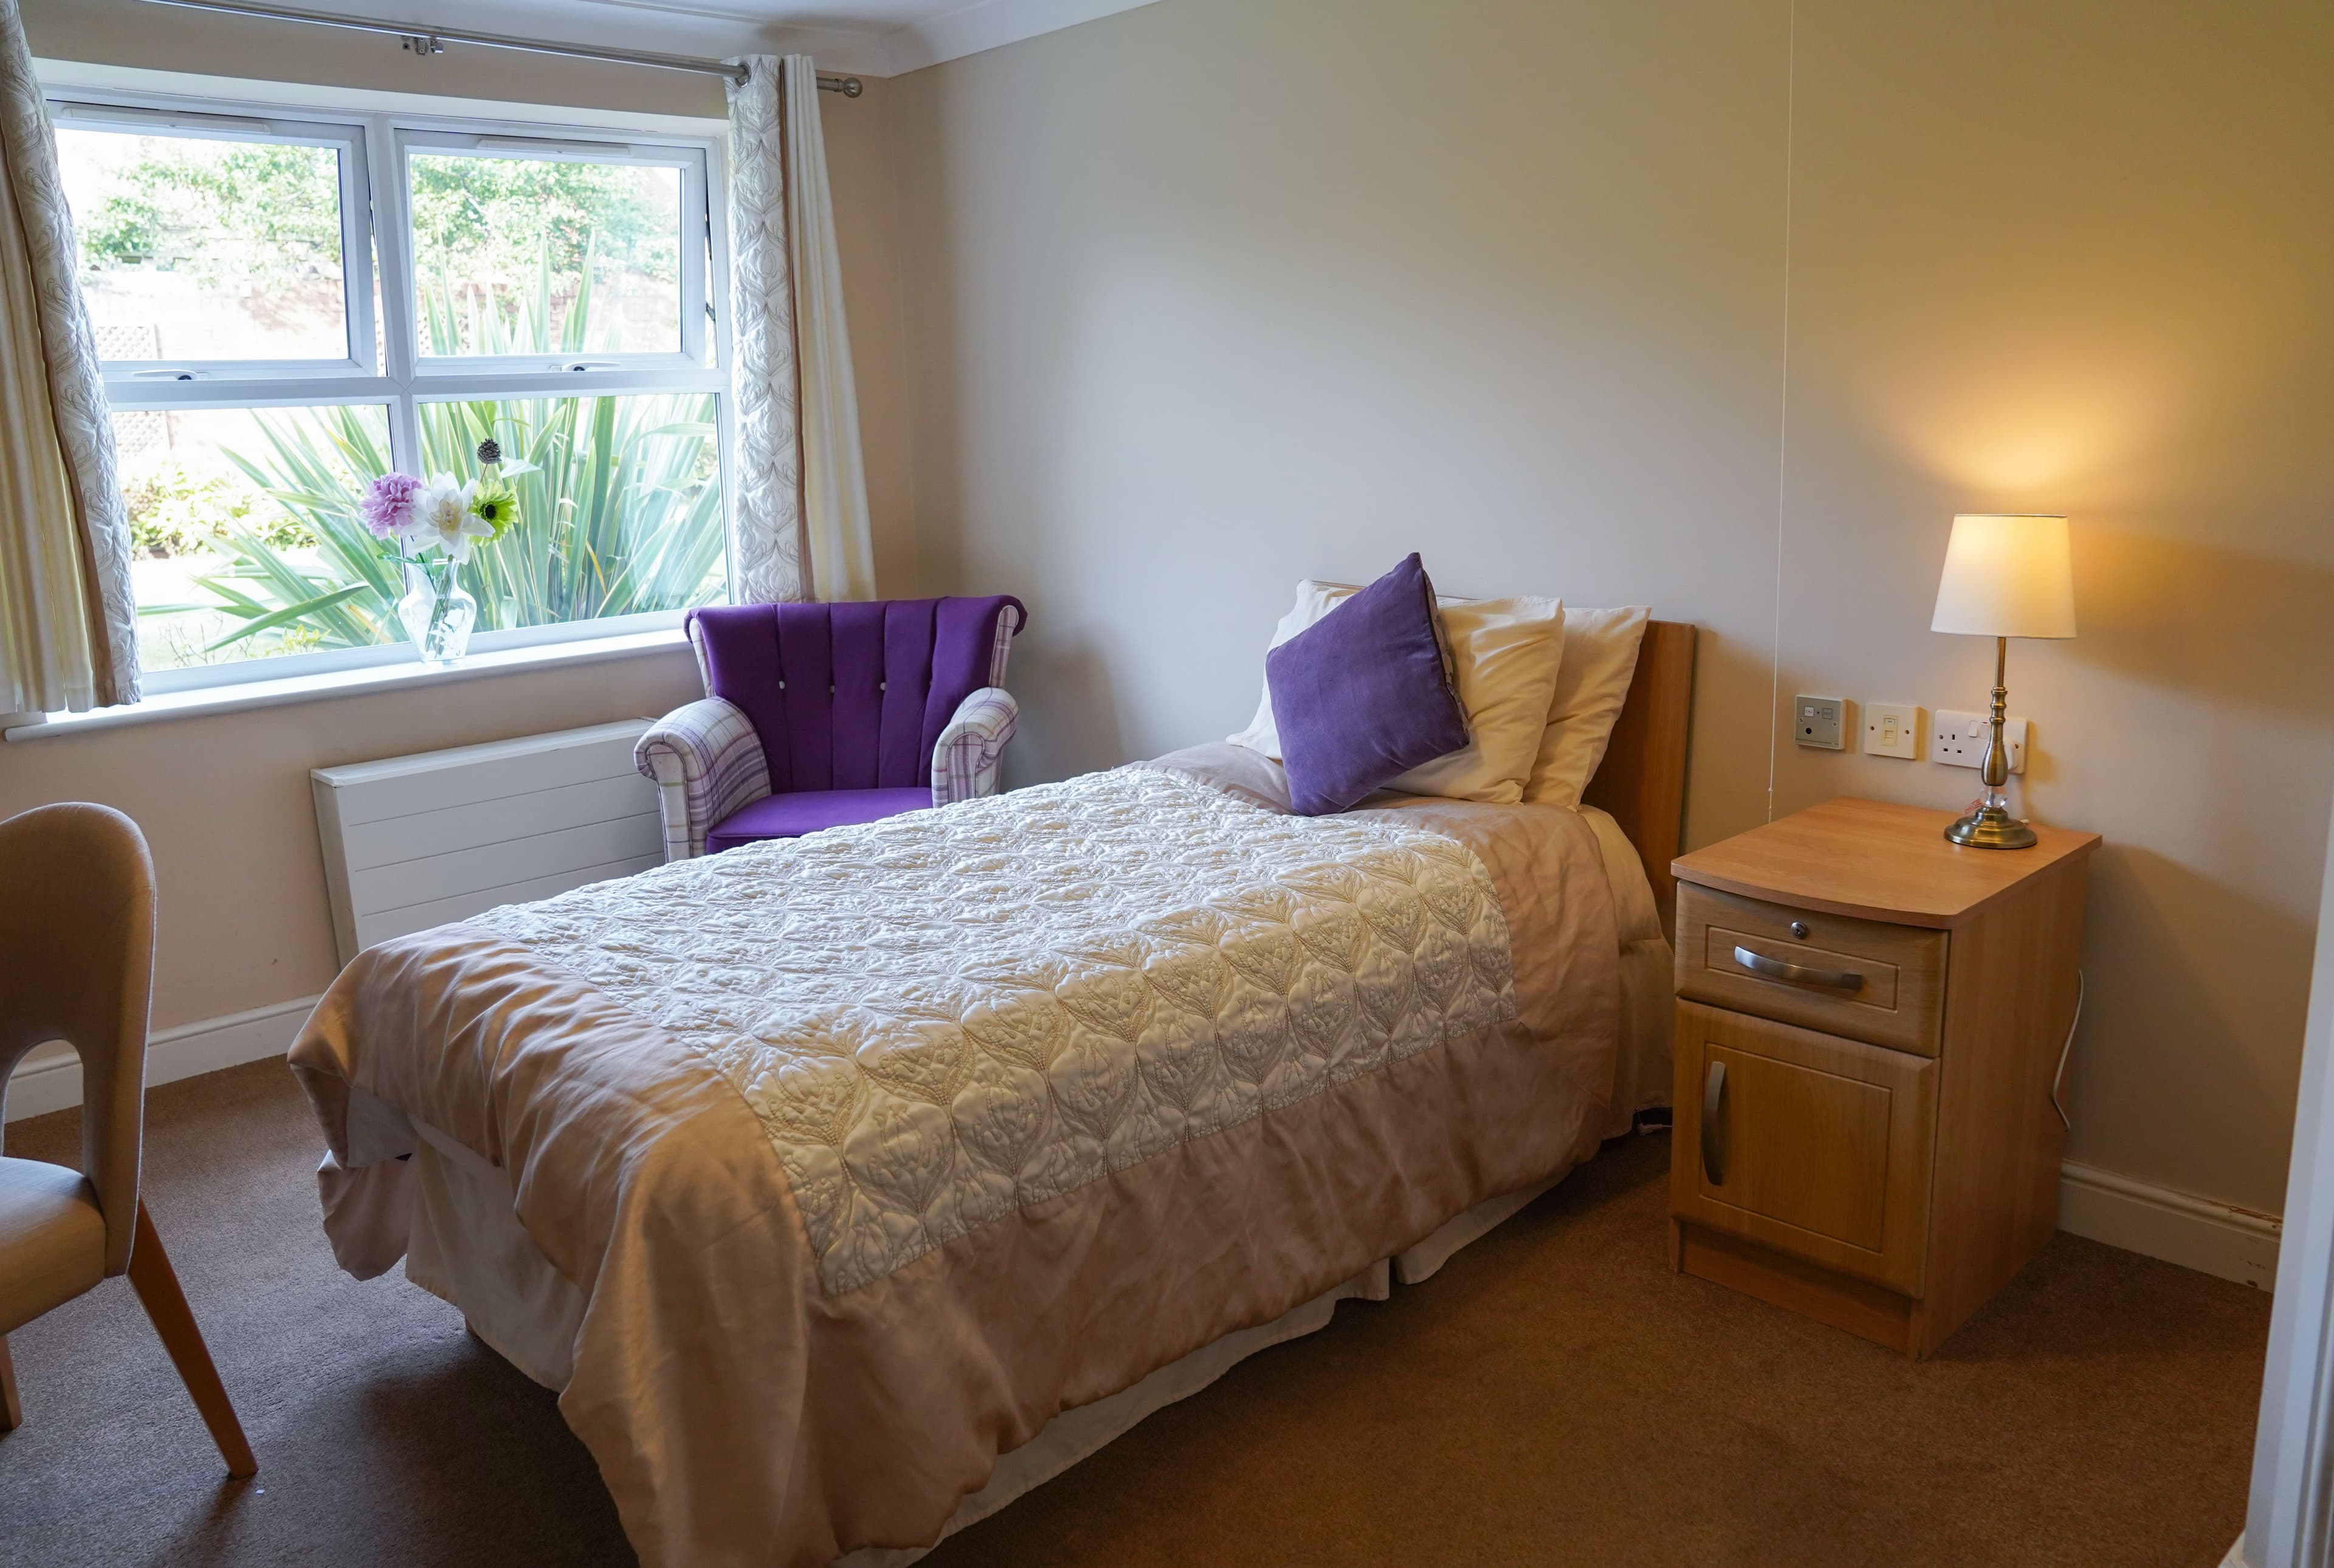
[[[1020,779],[1237,728],[1298,576],[1650,602],[1708,632],[1706,842],[1769,768],[1776,810],[1965,800],[1776,747],[1776,688],[1979,705],[1947,520],[2063,509],[2084,635],[2012,688],[2033,810],[2110,838],[2070,1153],[2273,1211],[2329,79],[2299,0],[1167,0],[903,77],[917,581],[1032,602]]]

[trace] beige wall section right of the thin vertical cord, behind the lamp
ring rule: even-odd
[[[1783,693],[1979,707],[1956,509],[2066,511],[2010,649],[2098,828],[2070,1155],[2276,1211],[2334,786],[2334,7],[1800,0]],[[1783,747],[1781,807],[1970,775]]]

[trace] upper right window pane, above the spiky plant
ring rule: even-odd
[[[422,355],[682,350],[682,170],[415,149]]]

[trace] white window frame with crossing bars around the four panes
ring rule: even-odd
[[[731,453],[735,399],[728,385],[728,222],[726,163],[719,135],[633,131],[591,124],[502,121],[448,114],[334,112],[329,107],[243,105],[170,93],[47,89],[49,112],[63,126],[133,131],[140,135],[226,135],[252,142],[338,147],[341,156],[341,280],[348,357],[343,359],[196,359],[110,362],[105,394],[117,413],[175,413],[198,408],[387,408],[390,457],[415,471],[420,404],[609,397],[712,394],[721,474],[721,534],[728,551],[733,506]],[[413,296],[413,231],[406,224],[406,152],[476,149],[481,154],[569,156],[574,161],[658,163],[682,170],[682,348],[670,355],[612,355],[567,359],[544,355],[425,357]],[[693,219],[703,212],[703,224]],[[376,259],[383,329],[376,331]],[[383,364],[373,362],[376,338]],[[628,637],[677,628],[686,611],[600,616],[502,632],[478,632],[471,651]],[[418,665],[413,644],[322,653],[275,653],[189,670],[154,670],[147,693],[196,691],[247,681]]]

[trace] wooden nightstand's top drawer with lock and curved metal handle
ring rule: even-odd
[[[1678,994],[1937,1055],[1944,931],[1678,884]]]

